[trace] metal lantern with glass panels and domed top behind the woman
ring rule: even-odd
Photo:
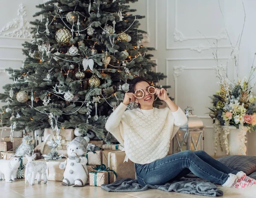
[[[184,150],[204,150],[204,124],[201,119],[192,114],[192,107],[185,109],[188,123],[180,127],[172,139],[172,153]]]

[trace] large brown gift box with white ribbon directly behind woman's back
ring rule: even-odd
[[[122,178],[135,179],[135,167],[131,160],[124,162],[125,152],[120,150],[103,150],[102,163],[114,170],[117,174],[117,180]],[[116,178],[114,177],[114,180]]]

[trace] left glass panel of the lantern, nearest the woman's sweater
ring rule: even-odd
[[[187,130],[178,130],[178,132],[173,138],[172,153],[178,153],[178,152],[187,150],[186,149],[187,138],[188,138]]]

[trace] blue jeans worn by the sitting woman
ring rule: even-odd
[[[167,181],[181,178],[190,172],[200,178],[224,184],[229,173],[234,175],[238,173],[202,150],[195,152],[187,150],[149,164],[135,164],[135,169],[137,180],[142,186],[165,184]]]

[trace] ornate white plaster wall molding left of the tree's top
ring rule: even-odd
[[[31,38],[31,25],[29,21],[25,19],[26,10],[23,3],[21,3],[18,8],[18,17],[19,18],[14,19],[12,22],[7,23],[7,25],[0,30],[0,35],[5,37]]]

